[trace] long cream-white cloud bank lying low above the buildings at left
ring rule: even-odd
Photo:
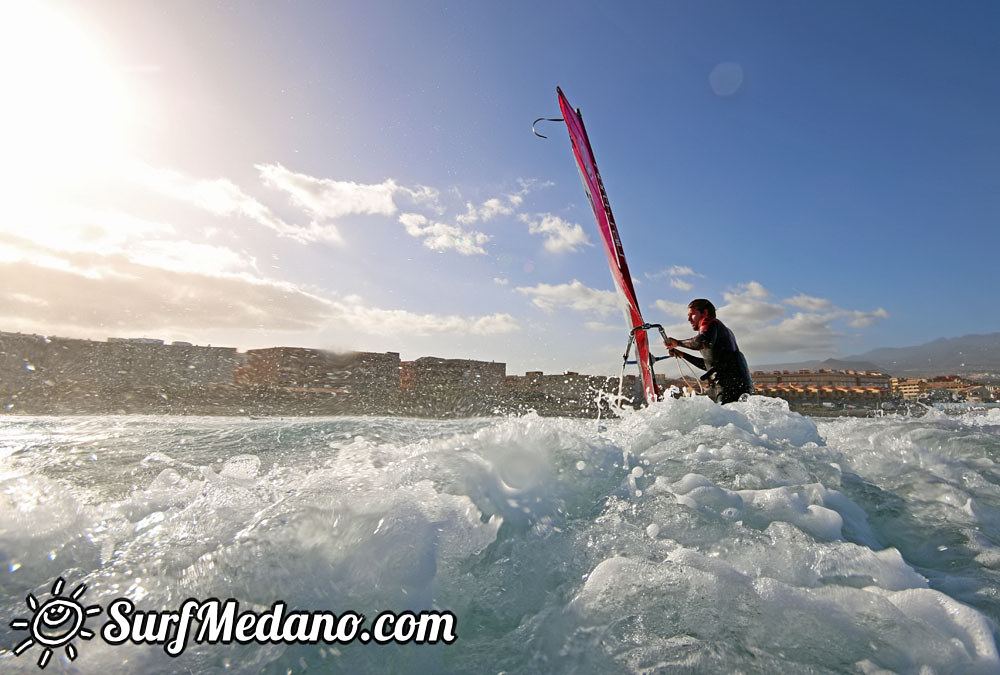
[[[0,235],[0,313],[8,330],[114,336],[242,331],[317,333],[331,326],[368,335],[501,335],[510,314],[418,314],[330,300],[253,272],[233,251],[191,242],[149,242],[126,253],[53,251]],[[202,264],[204,269],[198,269]],[[206,272],[211,270],[211,272]]]

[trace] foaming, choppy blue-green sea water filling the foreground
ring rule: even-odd
[[[996,410],[3,417],[0,444],[3,672],[1000,672]],[[56,598],[100,608],[92,637],[24,627]],[[171,656],[104,639],[122,598],[455,635]]]

